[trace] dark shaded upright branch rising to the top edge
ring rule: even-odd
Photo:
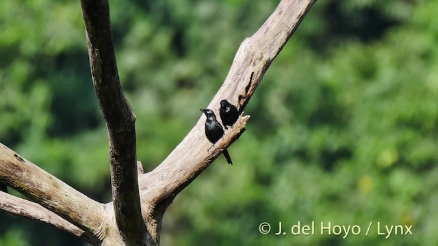
[[[127,245],[142,245],[148,237],[138,191],[136,115],[123,95],[107,0],[81,0],[94,90],[107,124],[110,141],[114,213]],[[150,236],[149,236],[150,237]]]

